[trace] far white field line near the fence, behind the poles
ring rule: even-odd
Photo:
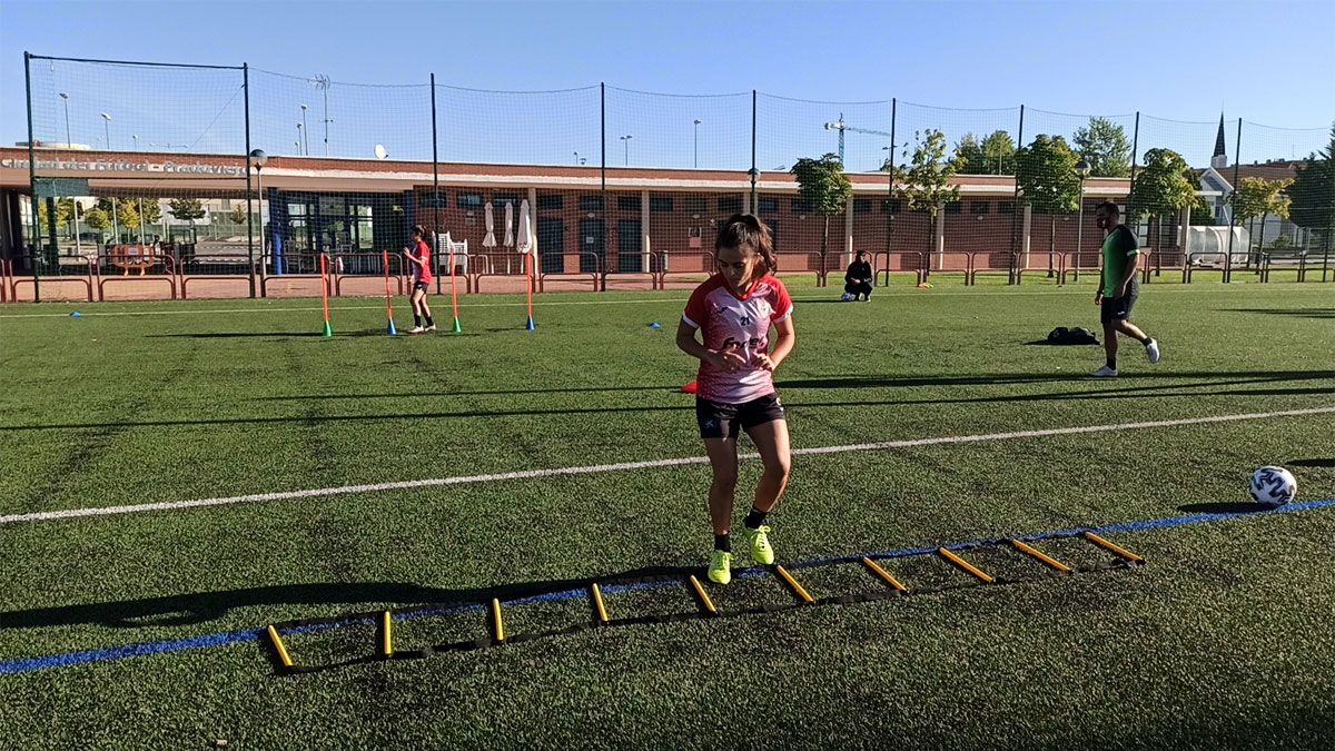
[[[1092,289],[1092,287],[1089,287],[1089,289]],[[1302,291],[1302,290],[1327,291],[1320,285],[1295,286],[1294,290],[1287,290],[1287,291]],[[1180,294],[1180,293],[1230,294],[1231,293],[1231,290],[1224,290],[1224,289],[1215,289],[1215,287],[1206,287],[1206,286],[1192,287],[1189,285],[1172,285],[1172,286],[1167,286],[1165,285],[1165,286],[1155,287],[1153,291],[1155,291],[1155,294]],[[1028,290],[1021,291],[1021,290],[1001,289],[1001,290],[996,290],[996,291],[991,291],[991,290],[932,290],[930,293],[918,293],[917,290],[910,289],[908,285],[898,285],[898,286],[890,287],[890,290],[882,290],[881,294],[882,295],[894,295],[896,299],[898,299],[901,294],[904,297],[909,297],[909,295],[918,295],[918,297],[1001,297],[1001,295],[1040,297],[1040,295],[1049,295],[1051,297],[1051,295],[1063,295],[1063,294],[1073,294],[1073,293],[1087,294],[1088,290],[1085,287],[1067,287],[1065,290],[1047,290],[1047,291],[1028,291]],[[1141,293],[1144,293],[1144,287],[1141,287]],[[402,295],[395,295],[395,297],[402,297]],[[832,299],[830,297],[797,297],[797,298],[793,298],[793,302],[797,302],[797,303],[802,303],[802,302],[828,302],[830,299]],[[129,303],[129,305],[135,303],[135,301],[121,301],[121,302],[123,303]],[[140,302],[147,302],[147,301],[140,301]],[[583,299],[583,301],[581,301],[581,299],[570,299],[570,301],[551,301],[551,302],[545,302],[545,301],[539,299],[539,301],[534,302],[534,307],[539,307],[541,309],[541,307],[557,307],[557,306],[569,306],[569,305],[575,305],[575,306],[578,306],[578,305],[655,305],[655,303],[668,303],[668,302],[674,302],[674,303],[682,303],[682,305],[685,305],[686,295],[682,295],[682,297],[645,298],[645,299],[630,299],[630,298],[625,298],[625,299]],[[67,306],[67,307],[79,307],[80,311],[83,310],[80,302],[51,302],[51,303],[43,303],[43,305],[60,305],[60,306]],[[527,303],[525,301],[519,299],[519,301],[515,301],[515,302],[461,302],[459,307],[523,307],[526,305]],[[383,307],[384,307],[383,305],[335,305],[335,303],[331,303],[330,305],[330,313],[338,313],[338,311],[342,311],[342,310],[383,310]],[[250,307],[216,307],[216,309],[198,309],[198,310],[190,310],[190,309],[187,309],[187,310],[120,310],[120,311],[100,313],[100,311],[97,311],[96,307],[93,307],[91,313],[87,313],[84,315],[85,317],[97,317],[97,318],[109,318],[109,317],[117,317],[117,315],[206,315],[206,314],[207,315],[214,315],[214,314],[219,314],[219,313],[319,313],[320,310],[322,310],[320,307],[308,306],[308,307],[254,307],[254,309],[250,309]],[[68,313],[13,313],[13,314],[3,314],[3,313],[0,313],[0,321],[20,319],[20,318],[69,318],[69,314]]]

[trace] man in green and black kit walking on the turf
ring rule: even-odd
[[[1103,281],[1093,295],[1093,303],[1100,306],[1103,349],[1108,361],[1092,373],[1097,378],[1117,376],[1119,333],[1144,345],[1151,363],[1159,362],[1159,342],[1131,322],[1131,307],[1140,294],[1140,283],[1136,282],[1140,249],[1135,233],[1119,220],[1119,214],[1117,204],[1111,200],[1100,203],[1095,210],[1099,229],[1107,233],[1103,241]]]

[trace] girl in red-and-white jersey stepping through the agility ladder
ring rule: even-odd
[[[774,563],[765,514],[774,509],[792,468],[788,418],[774,393],[774,369],[793,351],[793,301],[774,278],[774,241],[750,214],[734,214],[714,243],[718,273],[696,287],[677,326],[677,346],[700,359],[696,420],[714,472],[709,518],[714,552],[709,579],[732,581],[732,516],[737,489],[737,437],[746,430],[765,473],[744,522],[752,559]],[[770,341],[770,327],[777,337]],[[696,338],[700,331],[704,342]]]

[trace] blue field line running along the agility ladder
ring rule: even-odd
[[[1238,518],[1262,518],[1279,513],[1298,513],[1304,510],[1314,510],[1322,508],[1335,506],[1335,498],[1323,498],[1319,501],[1303,501],[1298,504],[1287,504],[1278,508],[1255,510],[1255,512],[1235,512],[1235,513],[1193,513],[1188,516],[1173,516],[1165,518],[1149,518],[1141,521],[1121,521],[1116,524],[1105,524],[1103,527],[1075,527],[1071,529],[1057,529],[1053,532],[1037,532],[1032,535],[1021,535],[1015,537],[1025,543],[1036,543],[1043,540],[1053,540],[1057,537],[1075,537],[1084,532],[1093,532],[1095,535],[1117,535],[1123,532],[1145,532],[1149,529],[1171,529],[1175,527],[1188,527],[1193,524],[1210,524],[1214,521],[1232,521]],[[939,545],[949,551],[965,551],[969,548],[980,548],[985,545],[996,545],[999,543],[1009,541],[1009,537],[995,537],[995,539],[981,539],[971,540],[967,543],[951,543],[947,545]],[[869,559],[902,559],[912,556],[922,556],[928,553],[934,553],[937,545],[918,547],[918,548],[900,548],[897,551],[885,551],[880,553],[865,553],[858,556],[837,556],[829,559],[814,559],[809,561],[801,561],[789,564],[788,568],[801,569],[801,568],[817,568],[822,565],[836,565],[858,563],[862,557]],[[762,568],[750,568],[737,572],[734,579],[749,579],[754,576],[764,576],[768,573]],[[607,584],[602,587],[606,593],[618,592],[634,592],[643,589],[662,589],[666,587],[681,587],[682,583],[677,580],[662,580],[662,581],[643,581],[638,584]],[[587,597],[587,589],[581,587],[575,589],[563,589],[561,592],[547,592],[543,595],[534,595],[531,597],[521,597],[517,600],[505,601],[507,605],[525,605],[535,603],[554,603],[563,600],[573,600],[577,597]],[[406,621],[417,620],[422,617],[433,617],[441,615],[454,615],[465,613],[471,611],[483,611],[485,607],[481,604],[469,605],[449,605],[442,608],[422,608],[410,612],[395,613],[394,620]],[[328,623],[316,623],[307,625],[298,625],[284,629],[283,633],[287,636],[318,633],[322,631],[330,631],[335,628],[343,628],[352,624],[372,624],[371,617],[350,617]],[[266,637],[266,629],[263,628],[250,628],[242,631],[223,631],[218,633],[206,633],[202,636],[190,636],[184,639],[172,639],[166,641],[146,641],[140,644],[125,644],[124,647],[108,647],[105,649],[87,649],[81,652],[63,652],[59,655],[47,655],[41,657],[23,657],[17,660],[4,660],[0,661],[0,675],[15,675],[32,672],[48,668],[61,668],[87,663],[100,663],[107,660],[123,660],[127,657],[140,657],[144,655],[163,655],[167,652],[183,652],[187,649],[203,649],[208,647],[223,647],[227,644],[236,644],[240,641],[256,641]]]

